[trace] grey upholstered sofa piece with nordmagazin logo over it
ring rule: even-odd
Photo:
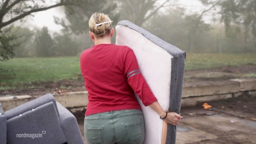
[[[52,94],[33,99],[5,114],[5,137],[10,144],[83,144],[76,117],[56,102]]]

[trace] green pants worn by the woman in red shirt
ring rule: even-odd
[[[87,144],[142,144],[145,127],[137,109],[96,113],[84,119]]]

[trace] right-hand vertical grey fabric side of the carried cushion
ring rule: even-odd
[[[172,58],[172,72],[171,72],[171,87],[170,87],[170,107],[169,112],[180,113],[182,90],[183,90],[183,76],[185,69],[186,54],[179,54],[176,58]],[[176,143],[176,126],[167,126],[166,144]]]

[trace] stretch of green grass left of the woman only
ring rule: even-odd
[[[79,57],[13,58],[0,63],[0,87],[74,80],[78,76],[81,76]]]

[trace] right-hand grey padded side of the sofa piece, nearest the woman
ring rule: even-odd
[[[84,144],[76,117],[60,103],[56,103],[59,110],[60,125],[66,136],[67,143]]]

